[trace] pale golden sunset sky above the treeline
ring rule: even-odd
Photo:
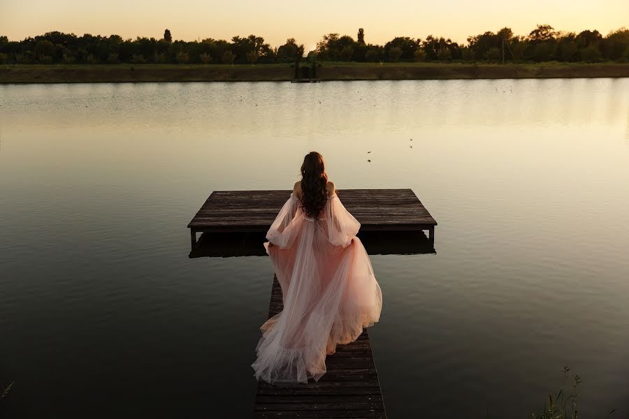
[[[628,0],[428,0],[211,1],[211,0],[0,0],[0,35],[12,41],[47,31],[174,39],[262,36],[272,46],[294,37],[312,50],[330,32],[366,42],[428,34],[465,42],[472,34],[511,27],[528,34],[536,24],[561,31],[598,29],[603,35],[629,26]]]

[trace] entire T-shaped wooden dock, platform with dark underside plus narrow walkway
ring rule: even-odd
[[[265,256],[266,231],[289,196],[290,191],[213,192],[188,224],[189,257]],[[338,196],[360,221],[359,238],[369,254],[435,253],[437,222],[412,190],[347,189]],[[274,278],[268,317],[282,309],[282,289]],[[318,382],[259,382],[254,417],[386,418],[366,329],[351,344],[337,346],[326,368]]]

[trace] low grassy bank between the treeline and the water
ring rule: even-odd
[[[288,64],[15,65],[0,66],[0,83],[287,81]],[[324,63],[321,80],[431,80],[629,77],[629,64]]]

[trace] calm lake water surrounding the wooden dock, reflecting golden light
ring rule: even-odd
[[[338,189],[410,187],[439,223],[434,255],[372,256],[390,418],[527,418],[563,365],[584,417],[629,413],[629,79],[3,85],[0,105],[3,417],[250,416],[270,260],[191,260],[186,225],[213,190],[289,189],[312,149]]]

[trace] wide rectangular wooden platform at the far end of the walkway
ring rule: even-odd
[[[291,191],[215,191],[188,224],[196,233],[266,233]],[[427,230],[435,241],[437,221],[411,189],[345,189],[338,197],[361,223],[361,231]]]

